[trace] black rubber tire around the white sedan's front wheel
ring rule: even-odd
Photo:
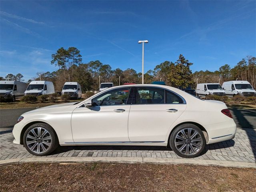
[[[50,146],[48,146],[47,150],[45,152],[40,152],[40,153],[37,153],[35,151],[32,151],[29,147],[28,147],[28,144],[27,144],[27,141],[26,141],[26,137],[28,135],[28,133],[30,132],[30,130],[34,129],[34,128],[43,128],[44,130],[47,130],[48,133],[50,134],[51,136],[51,143],[50,143]],[[31,134],[30,134],[31,136]],[[36,142],[38,143],[38,142]],[[48,143],[48,142],[47,142]],[[50,153],[52,153],[54,150],[56,150],[56,148],[58,147],[59,145],[59,141],[58,141],[58,137],[56,136],[56,133],[54,132],[54,129],[46,124],[46,123],[36,123],[36,124],[33,124],[31,125],[24,133],[24,136],[23,136],[23,144],[26,148],[26,150],[28,150],[28,152],[30,152],[31,154],[33,155],[36,155],[36,156],[46,156]],[[46,146],[46,145],[44,145]],[[42,148],[39,146],[39,148]]]

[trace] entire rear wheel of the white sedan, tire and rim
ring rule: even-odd
[[[198,126],[183,124],[172,132],[169,143],[178,156],[193,158],[199,156],[204,150],[206,140]]]

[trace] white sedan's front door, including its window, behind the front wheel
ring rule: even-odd
[[[112,89],[93,98],[92,107],[76,108],[71,118],[74,142],[130,142],[130,92],[130,87]]]

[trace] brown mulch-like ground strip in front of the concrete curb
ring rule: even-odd
[[[0,191],[256,191],[256,169],[154,164],[0,167]]]

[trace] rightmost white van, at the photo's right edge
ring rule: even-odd
[[[227,96],[256,96],[256,91],[248,81],[227,81],[222,87]]]

